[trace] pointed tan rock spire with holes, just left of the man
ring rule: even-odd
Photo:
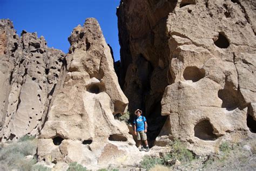
[[[65,80],[39,136],[38,160],[90,169],[131,162],[135,142],[126,124],[113,117],[126,112],[128,100],[97,20],[78,25],[69,42]]]

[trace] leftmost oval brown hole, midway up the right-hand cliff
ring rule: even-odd
[[[196,66],[187,66],[183,72],[183,77],[185,80],[196,82],[205,77],[205,70],[198,69]]]

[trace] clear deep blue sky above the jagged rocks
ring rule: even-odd
[[[96,18],[114,59],[120,59],[116,8],[120,0],[0,0],[0,18],[9,18],[18,35],[22,30],[44,36],[49,47],[67,53],[68,37],[86,18]]]

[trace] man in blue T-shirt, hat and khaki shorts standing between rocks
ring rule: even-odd
[[[137,140],[139,142],[139,146],[141,148],[139,151],[149,151],[149,145],[147,144],[147,121],[144,116],[142,116],[142,110],[137,109],[134,114],[136,118],[133,121],[134,125],[134,134],[137,135]],[[143,147],[143,142],[145,144],[145,148]]]

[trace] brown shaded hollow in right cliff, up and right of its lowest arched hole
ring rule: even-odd
[[[223,101],[221,107],[226,108],[228,111],[232,111],[239,106],[238,92],[236,90],[219,90],[218,97]]]

